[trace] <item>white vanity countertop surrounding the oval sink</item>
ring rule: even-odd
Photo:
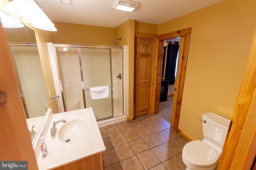
[[[36,155],[39,170],[58,168],[106,150],[91,107],[64,113],[56,113],[53,114],[52,117],[49,117],[49,119],[51,119],[50,127],[46,127],[48,129],[46,135],[48,154],[46,157],[42,157],[41,152]],[[74,143],[64,142],[56,145],[56,141],[59,140],[58,136],[50,138],[50,128],[52,127],[53,121],[58,121],[60,119],[64,119],[67,122],[74,119],[84,120],[88,125],[88,129],[84,132],[85,134],[81,134],[83,136],[86,135],[85,140],[75,143],[76,145],[74,145]],[[56,127],[57,129],[60,129],[63,125],[64,123],[60,122]],[[40,147],[36,149],[40,150]]]

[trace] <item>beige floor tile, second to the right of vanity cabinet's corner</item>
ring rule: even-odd
[[[114,150],[116,152],[116,156],[119,161],[122,161],[126,158],[130,158],[131,156],[135,155],[132,148],[130,147],[130,145],[128,143],[121,145],[119,147],[116,147],[116,148],[114,148]]]

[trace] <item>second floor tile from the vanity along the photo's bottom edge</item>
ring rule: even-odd
[[[122,170],[144,170],[136,156],[132,156],[120,162]]]

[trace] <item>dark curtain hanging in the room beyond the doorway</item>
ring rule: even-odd
[[[167,46],[167,59],[166,59],[166,70],[165,80],[169,80],[169,84],[175,83],[175,70],[176,70],[176,59],[179,51],[179,42],[170,42]]]

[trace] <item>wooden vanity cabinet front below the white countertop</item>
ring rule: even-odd
[[[60,166],[54,170],[105,170],[104,152]]]

